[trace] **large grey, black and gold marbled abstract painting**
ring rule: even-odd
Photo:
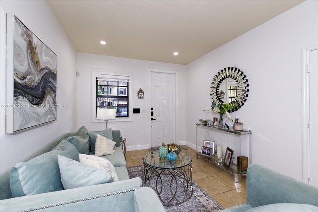
[[[7,14],[6,133],[56,120],[57,56]]]

